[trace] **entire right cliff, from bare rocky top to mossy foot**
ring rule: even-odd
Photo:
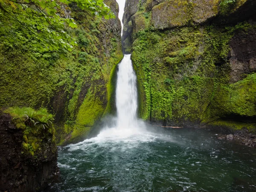
[[[137,12],[124,15],[122,44],[137,73],[140,117],[255,130],[256,1],[129,2]]]

